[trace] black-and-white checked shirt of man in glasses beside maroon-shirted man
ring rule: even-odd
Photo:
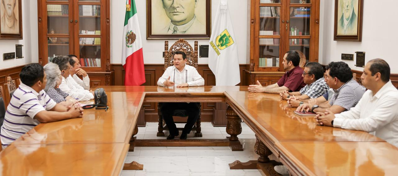
[[[307,84],[300,90],[301,95],[307,95],[310,98],[318,98],[328,92],[329,86],[325,82],[325,78],[319,78],[311,84]]]

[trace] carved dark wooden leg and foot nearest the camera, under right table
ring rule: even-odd
[[[230,169],[260,169],[267,176],[279,176],[274,170],[273,163],[270,162],[268,156],[272,154],[271,150],[261,142],[256,135],[256,144],[254,145],[254,152],[256,152],[260,157],[258,160],[251,160],[246,163],[240,161],[234,161],[229,164]]]

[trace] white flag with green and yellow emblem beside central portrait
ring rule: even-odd
[[[240,82],[238,45],[232,27],[227,0],[220,0],[209,49],[209,68],[216,77],[216,86],[235,86]]]

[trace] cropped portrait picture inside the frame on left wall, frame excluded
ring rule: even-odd
[[[18,0],[1,0],[1,33],[2,34],[19,34],[19,4]]]

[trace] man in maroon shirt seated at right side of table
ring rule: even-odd
[[[278,80],[277,83],[263,87],[259,81],[256,85],[250,85],[249,92],[263,92],[270,94],[279,94],[283,90],[297,92],[305,86],[301,77],[304,70],[298,66],[300,63],[300,55],[296,51],[288,51],[283,56],[283,69],[286,70],[285,75]]]

